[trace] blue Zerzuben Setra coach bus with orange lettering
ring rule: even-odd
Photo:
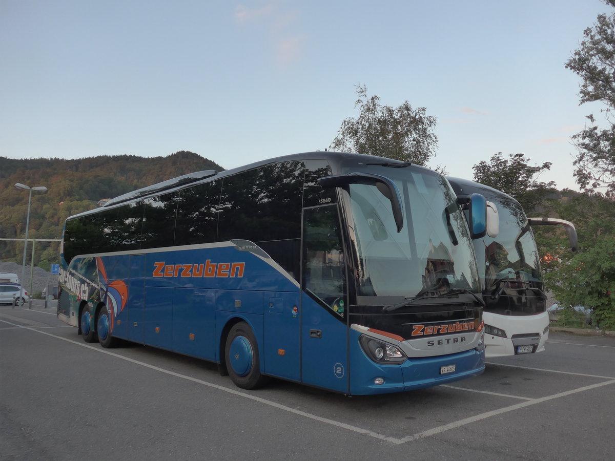
[[[485,200],[466,202],[470,226],[442,175],[340,152],[180,176],[66,220],[58,318],[103,347],[213,361],[247,389],[475,376]]]

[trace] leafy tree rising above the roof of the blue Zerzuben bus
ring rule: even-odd
[[[379,104],[378,96],[367,96],[367,87],[357,85],[357,119],[342,122],[330,149],[388,157],[416,165],[426,165],[435,156],[438,138],[433,130],[435,117],[425,108],[413,109],[408,101],[397,108]]]

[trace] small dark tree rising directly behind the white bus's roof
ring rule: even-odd
[[[540,173],[550,170],[551,163],[531,167],[528,165],[530,159],[523,154],[510,154],[509,157],[505,159],[502,152],[498,152],[491,157],[490,164],[483,160],[474,165],[474,181],[505,192],[521,203],[526,213],[532,213],[546,195],[555,190],[554,181],[538,182]]]

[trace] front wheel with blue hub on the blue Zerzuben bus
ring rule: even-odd
[[[231,328],[224,348],[226,368],[232,382],[242,389],[256,389],[268,380],[261,374],[256,337],[244,321]]]

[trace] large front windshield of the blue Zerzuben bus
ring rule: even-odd
[[[376,187],[349,186],[346,206],[351,210],[347,214],[357,304],[380,304],[374,299],[378,296],[408,299],[451,290],[480,292],[469,230],[445,179],[410,165],[370,166],[397,186],[404,224],[397,232],[391,202]]]

